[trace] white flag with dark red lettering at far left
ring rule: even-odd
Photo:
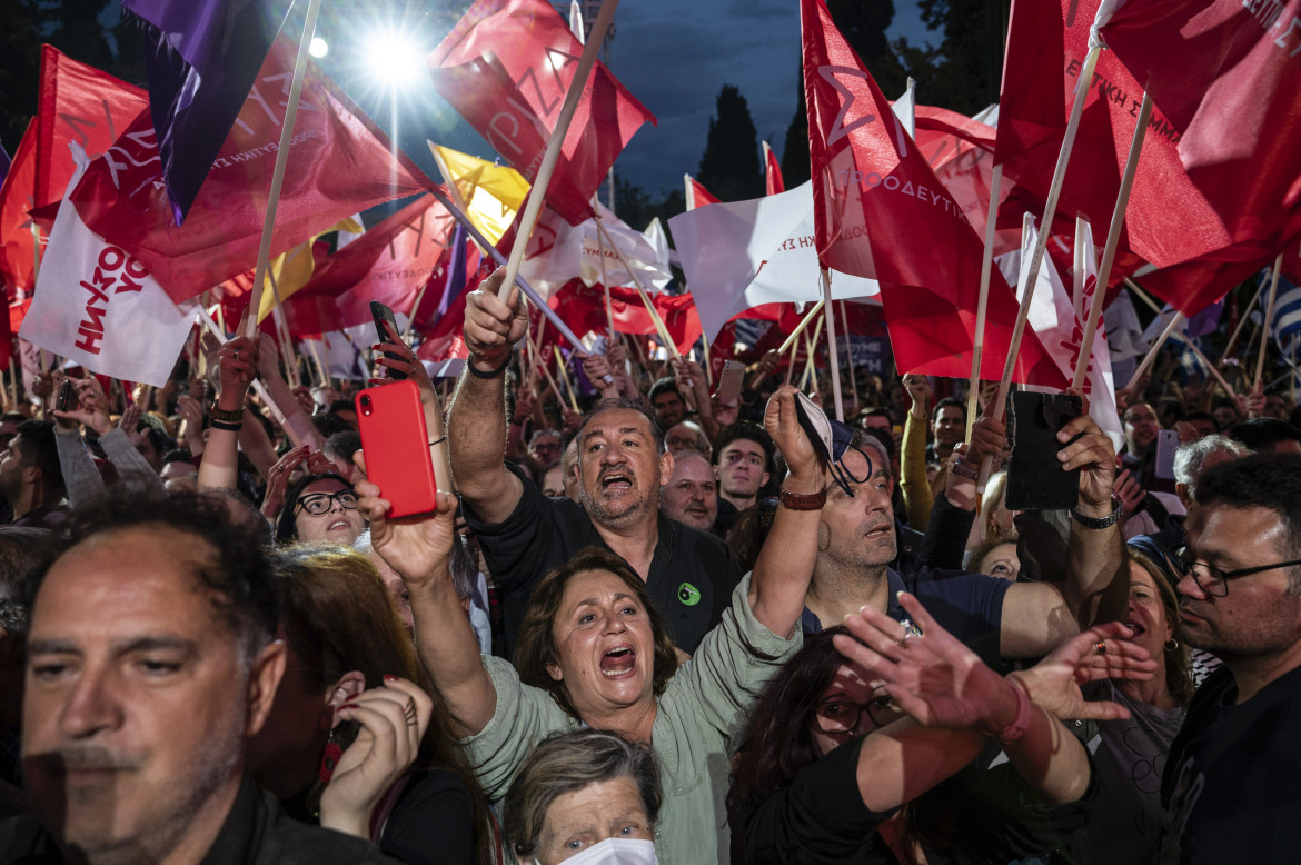
[[[86,172],[73,174],[72,189]],[[141,261],[99,237],[66,199],[20,334],[92,372],[167,385],[198,302],[177,306]]]

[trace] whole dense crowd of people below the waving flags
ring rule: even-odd
[[[1301,848],[1288,394],[1157,375],[1119,449],[1055,432],[1073,507],[1010,510],[991,388],[969,419],[963,382],[861,376],[839,423],[775,353],[727,405],[613,341],[566,403],[501,278],[450,390],[375,346],[373,386],[419,389],[431,512],[367,476],[355,382],[291,388],[265,337],[139,398],[55,371],[0,416],[0,861]]]

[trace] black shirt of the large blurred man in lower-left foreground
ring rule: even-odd
[[[53,836],[34,814],[0,823],[0,861],[10,865],[57,865],[64,861]],[[276,797],[250,779],[239,787],[202,865],[349,865],[397,860],[380,853],[371,842],[290,819]]]

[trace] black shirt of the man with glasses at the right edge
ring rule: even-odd
[[[1232,598],[1229,598],[1232,600]],[[1241,705],[1228,667],[1170,747],[1160,862],[1294,862],[1301,851],[1301,667]]]

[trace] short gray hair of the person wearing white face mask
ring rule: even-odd
[[[636,783],[653,829],[664,792],[650,745],[604,730],[571,730],[544,740],[524,760],[502,803],[503,830],[515,856],[535,856],[546,813],[557,797],[617,778]]]

